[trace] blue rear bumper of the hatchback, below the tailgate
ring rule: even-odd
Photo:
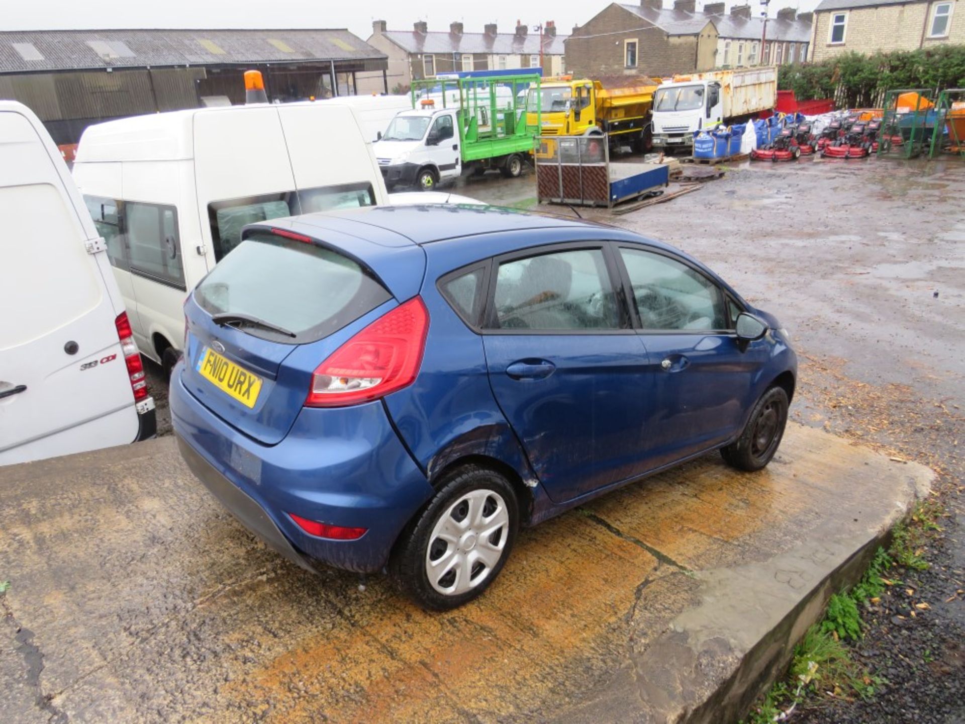
[[[412,515],[432,495],[426,476],[392,428],[381,403],[304,408],[277,445],[236,431],[171,376],[171,422],[181,454],[221,503],[298,565],[320,561],[375,572]],[[366,528],[356,541],[311,536],[289,514]]]

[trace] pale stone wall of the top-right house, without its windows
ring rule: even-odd
[[[965,42],[965,17],[960,16],[965,13],[965,7],[961,0],[954,0],[948,38],[927,37],[934,5],[934,2],[921,2],[815,13],[812,60],[819,62],[852,50],[871,54],[878,50],[916,50],[923,45]],[[831,44],[828,42],[831,18],[838,13],[847,14],[844,42]]]

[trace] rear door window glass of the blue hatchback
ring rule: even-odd
[[[502,263],[496,274],[495,313],[500,329],[620,329],[600,249]]]

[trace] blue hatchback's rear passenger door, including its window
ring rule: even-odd
[[[494,261],[489,381],[547,494],[563,503],[639,472],[652,380],[604,244]]]

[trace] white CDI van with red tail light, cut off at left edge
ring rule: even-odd
[[[0,100],[0,465],[152,437],[105,246],[40,120]]]

